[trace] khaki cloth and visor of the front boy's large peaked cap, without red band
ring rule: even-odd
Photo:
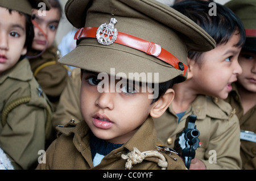
[[[212,37],[191,19],[155,0],[69,0],[65,14],[76,28],[100,27],[115,18],[114,28],[118,32],[158,44],[185,65],[188,50],[204,52],[216,45]],[[148,83],[156,82],[154,73],[159,73],[159,82],[175,77],[182,82],[187,77],[187,74],[183,76],[182,70],[159,58],[122,44],[102,45],[96,38],[82,38],[77,44],[59,62],[110,75],[125,73],[128,79],[129,73],[151,73],[153,78]],[[115,68],[115,72],[110,68]]]

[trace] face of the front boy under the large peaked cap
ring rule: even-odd
[[[110,78],[109,78],[110,80]],[[86,124],[94,135],[114,144],[123,144],[147,119],[154,104],[148,95],[137,92],[133,86],[123,86],[120,90],[99,92],[97,74],[81,73],[80,107]],[[100,84],[99,84],[100,85]],[[114,85],[116,82],[114,82]],[[127,90],[129,89],[129,92]]]

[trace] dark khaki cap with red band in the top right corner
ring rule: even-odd
[[[256,52],[256,1],[232,0],[225,6],[242,20],[245,27],[246,41],[243,49]]]

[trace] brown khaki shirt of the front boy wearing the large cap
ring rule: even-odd
[[[139,151],[156,150],[157,144],[162,144],[156,138],[154,123],[151,118],[147,119],[126,144],[114,149],[106,155],[101,163],[93,166],[92,154],[89,145],[89,127],[85,121],[76,124],[76,127],[57,128],[62,133],[59,138],[53,141],[46,151],[46,163],[39,163],[36,169],[125,169],[126,159],[121,158],[122,154],[138,148]],[[162,152],[161,152],[162,153]],[[162,153],[168,162],[167,169],[185,169],[181,158],[172,153]],[[174,161],[175,157],[177,161]],[[141,163],[133,165],[132,169],[161,169],[158,166],[159,159],[156,157],[145,158]]]

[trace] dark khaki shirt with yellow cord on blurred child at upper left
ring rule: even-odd
[[[57,62],[59,56],[57,54],[59,50],[55,47],[46,49],[46,51],[39,57],[30,59],[31,70],[34,73],[36,81],[42,87],[46,93],[49,101],[52,103],[53,110],[59,102],[61,92],[67,85],[68,70],[64,65]],[[55,62],[55,64],[47,65],[49,62]],[[40,71],[36,72],[39,66],[43,66]]]

